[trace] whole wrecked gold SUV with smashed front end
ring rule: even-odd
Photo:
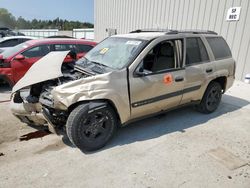
[[[103,147],[119,125],[179,106],[211,113],[234,81],[231,51],[212,31],[136,30],[62,63],[68,53],[34,64],[14,86],[11,109],[30,126],[66,129],[81,150]]]

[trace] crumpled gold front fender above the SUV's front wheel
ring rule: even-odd
[[[66,110],[83,101],[108,100],[116,107],[121,122],[130,117],[126,69],[74,80],[53,88],[51,94],[55,109]]]

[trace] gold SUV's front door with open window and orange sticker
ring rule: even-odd
[[[185,70],[182,69],[183,40],[158,43],[129,78],[131,118],[160,112],[178,105],[182,98]]]

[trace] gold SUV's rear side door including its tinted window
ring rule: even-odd
[[[215,71],[203,38],[188,37],[185,46],[185,85],[181,104],[201,99]]]

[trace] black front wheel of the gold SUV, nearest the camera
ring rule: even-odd
[[[117,128],[117,117],[107,105],[89,109],[88,104],[76,107],[69,115],[66,132],[70,141],[82,151],[102,148],[112,138]]]

